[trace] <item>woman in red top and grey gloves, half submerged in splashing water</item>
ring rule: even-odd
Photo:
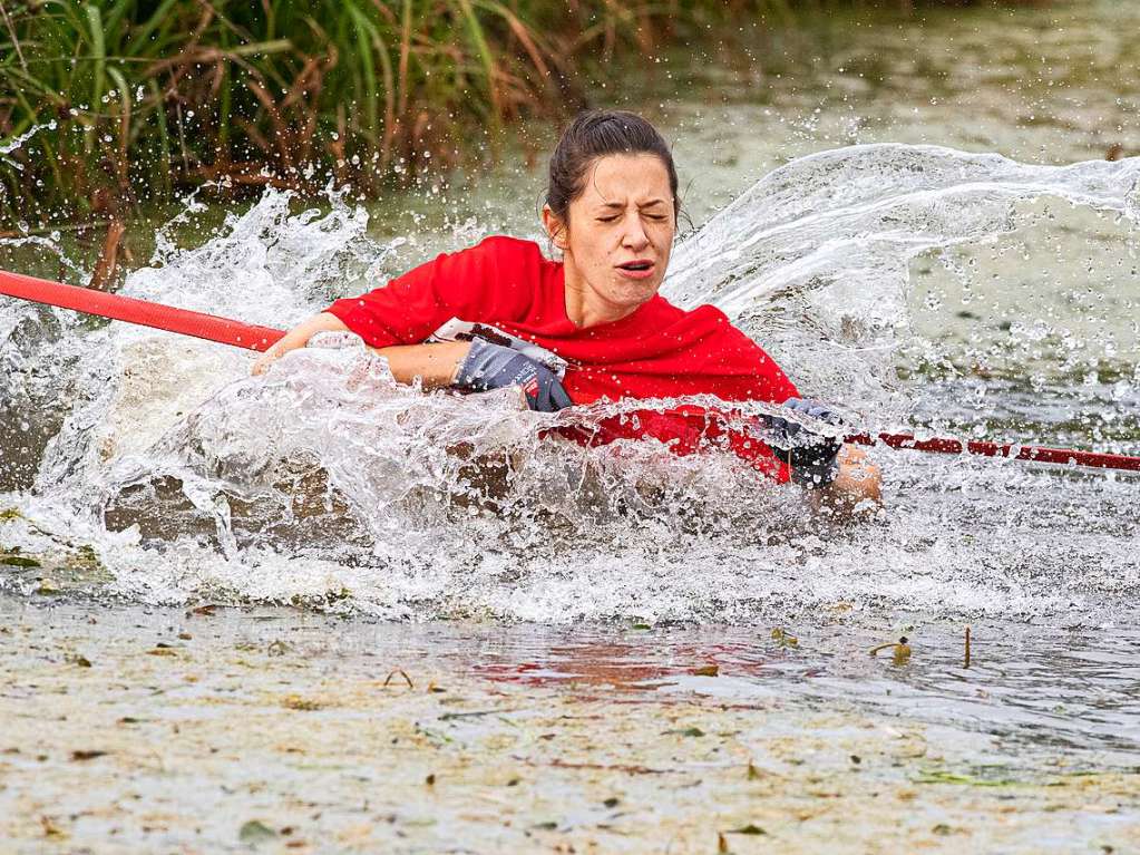
[[[661,135],[618,111],[579,115],[551,158],[543,225],[562,261],[537,244],[490,237],[440,255],[385,287],[337,300],[292,329],[254,365],[260,374],[318,332],[351,331],[376,348],[402,383],[425,389],[522,388],[532,409],[571,404],[715,394],[725,401],[783,404],[788,420],[768,418],[764,435],[790,439],[798,416],[834,421],[803,401],[780,367],[718,309],[683,311],[658,295],[677,230],[677,173]],[[453,318],[492,325],[545,348],[567,364],[555,369],[506,344],[424,343]],[[646,410],[609,420],[581,441],[654,437],[677,454],[730,448],[759,471],[853,505],[879,499],[878,471],[861,451],[829,438],[779,456],[747,430],[698,407]],[[803,434],[785,445],[803,442]],[[833,503],[834,504],[834,503]]]

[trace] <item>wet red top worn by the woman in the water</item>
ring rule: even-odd
[[[562,263],[546,259],[530,241],[489,237],[385,287],[337,300],[328,311],[374,348],[418,344],[451,318],[497,326],[565,359],[570,367],[562,385],[575,404],[702,393],[781,404],[798,394],[780,366],[711,306],[684,311],[654,296],[621,320],[575,326],[567,317]],[[606,420],[591,441],[654,437],[676,454],[692,454],[711,441],[787,480],[787,466],[767,446],[725,431],[720,420],[699,407],[644,410],[636,422],[635,427],[632,418],[625,424]]]

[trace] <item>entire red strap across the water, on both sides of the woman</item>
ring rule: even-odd
[[[0,270],[0,294],[31,300],[63,309],[98,315],[104,318],[125,320],[131,324],[165,329],[171,333],[193,335],[221,344],[247,350],[268,350],[278,339],[285,335],[280,329],[266,326],[242,324],[214,315],[204,315],[186,309],[174,309],[147,300],[136,300],[119,294],[107,294],[91,288],[79,288],[74,285],[63,285],[31,276],[9,274]],[[967,441],[934,437],[918,439],[906,433],[880,433],[872,437],[858,433],[845,437],[847,442],[862,446],[882,443],[890,448],[909,448],[915,451],[935,451],[940,454],[970,454],[982,457],[1008,457],[1015,461],[1033,461],[1035,463],[1059,463],[1094,469],[1117,469],[1140,472],[1140,457],[1127,457],[1119,454],[1099,454],[1068,448],[1043,448],[1040,446],[1023,446],[1015,443]]]

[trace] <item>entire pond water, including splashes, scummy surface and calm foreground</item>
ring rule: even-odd
[[[701,228],[668,294],[863,426],[1140,453],[1140,165],[1104,160],[1140,149],[1137,18],[832,19],[662,57],[611,98],[676,139]],[[154,255],[124,291],[286,325],[535,236],[539,185],[504,165],[369,207],[188,203],[132,230]],[[89,266],[67,235],[0,251]],[[1134,478],[882,451],[885,511],[833,526],[715,456],[540,442],[543,417],[400,389],[350,341],[264,381],[9,303],[0,341],[17,847],[1135,837]]]

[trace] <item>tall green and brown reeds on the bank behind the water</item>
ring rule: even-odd
[[[372,194],[583,106],[618,51],[858,5],[0,0],[0,210],[114,215],[205,181]]]

